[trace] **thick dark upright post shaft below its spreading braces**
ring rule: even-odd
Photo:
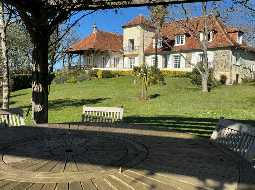
[[[34,124],[48,123],[48,39],[38,31],[34,34],[32,57],[32,119]]]

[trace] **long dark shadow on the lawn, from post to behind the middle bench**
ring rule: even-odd
[[[60,109],[65,107],[83,106],[83,105],[94,105],[101,103],[110,98],[94,98],[94,99],[57,99],[49,101],[49,108]]]

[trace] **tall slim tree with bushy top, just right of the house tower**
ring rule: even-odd
[[[160,38],[160,30],[168,15],[168,9],[166,5],[156,5],[149,7],[150,19],[156,28],[155,32],[155,67],[158,67],[158,42]],[[153,47],[154,48],[154,47]]]

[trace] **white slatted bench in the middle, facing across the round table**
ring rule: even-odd
[[[83,106],[82,122],[115,123],[123,119],[123,108]]]

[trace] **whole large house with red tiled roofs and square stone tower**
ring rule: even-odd
[[[158,40],[158,67],[190,72],[203,59],[204,17],[165,23]],[[208,61],[215,78],[227,83],[254,77],[255,48],[243,42],[244,32],[208,16]],[[132,69],[141,63],[155,63],[155,28],[142,15],[123,26],[123,36],[93,27],[90,36],[69,48],[83,57],[82,64],[98,69]]]

